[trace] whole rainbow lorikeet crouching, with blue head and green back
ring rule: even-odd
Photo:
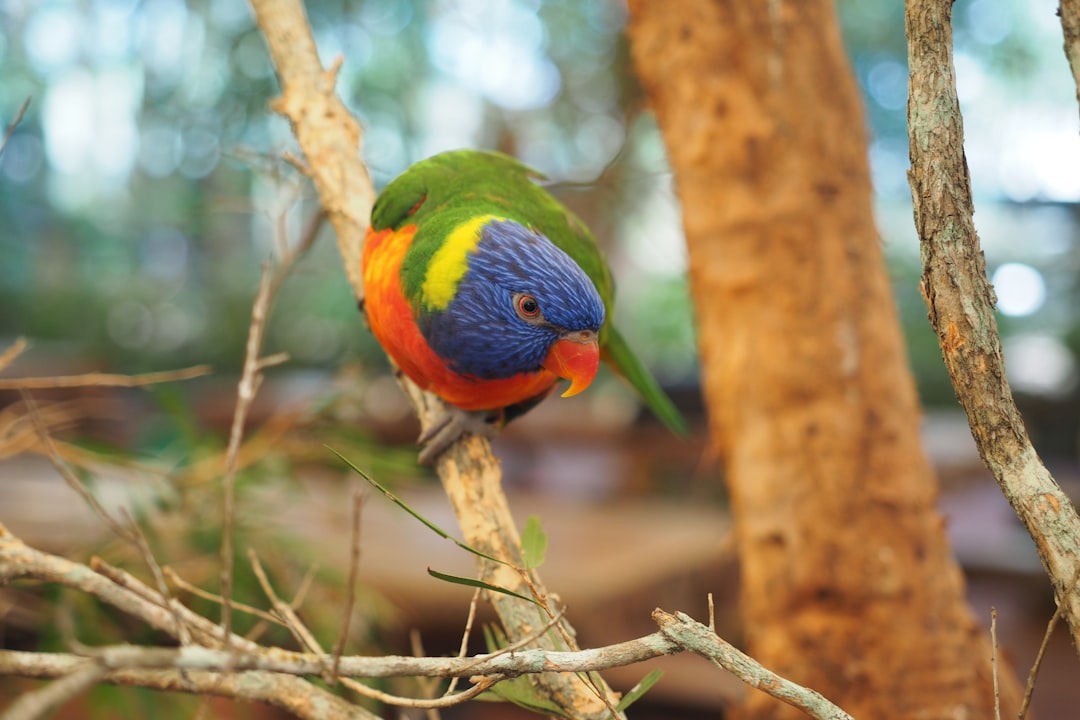
[[[613,283],[585,225],[509,155],[444,152],[382,191],[363,254],[375,338],[453,408],[420,438],[430,462],[463,432],[490,435],[592,382],[603,357],[669,427],[683,417],[611,324]]]

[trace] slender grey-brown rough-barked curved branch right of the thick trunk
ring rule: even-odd
[[[1080,517],[1031,445],[1005,380],[996,298],[972,219],[951,0],[907,0],[908,138],[922,294],[983,462],[1035,540],[1080,649]]]

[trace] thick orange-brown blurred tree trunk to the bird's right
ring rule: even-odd
[[[993,717],[832,3],[631,0],[683,203],[750,652],[855,717]],[[1018,688],[1000,678],[1002,710]],[[753,717],[796,717],[760,694]]]

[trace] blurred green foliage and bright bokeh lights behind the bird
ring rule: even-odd
[[[345,58],[339,89],[363,120],[378,185],[451,147],[497,147],[538,166],[608,247],[626,334],[662,379],[693,382],[677,203],[619,2],[307,6],[323,59]],[[918,295],[903,6],[838,9],[913,367],[926,402],[951,405]],[[957,72],[990,270],[1026,263],[1044,283],[1035,310],[1003,317],[1021,348],[1010,370],[1022,391],[1071,400],[1080,144],[1054,11],[1052,0],[960,0]],[[259,259],[276,230],[295,237],[312,213],[310,190],[280,160],[295,148],[267,109],[275,80],[247,5],[14,0],[0,22],[0,117],[32,98],[0,159],[0,338],[30,336],[40,363],[235,369]],[[1056,348],[1056,361],[1039,348]],[[328,237],[284,290],[268,336],[276,350],[294,368],[384,367]]]

